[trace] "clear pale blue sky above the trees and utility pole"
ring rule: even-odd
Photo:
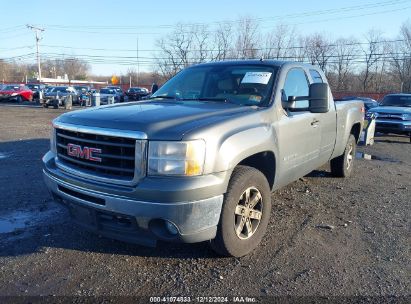
[[[364,40],[368,30],[377,29],[391,39],[409,19],[411,0],[2,1],[1,12],[0,58],[34,62],[34,33],[25,26],[34,24],[45,29],[44,57],[110,56],[118,61],[117,56],[136,57],[137,41],[139,56],[153,57],[156,40],[176,23],[211,26],[245,16],[258,19],[262,31],[282,23],[304,35],[320,32],[332,39]],[[92,73],[119,74],[130,67],[101,61],[92,64]],[[140,71],[150,69],[150,64],[140,65]]]

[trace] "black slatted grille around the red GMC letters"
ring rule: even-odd
[[[96,156],[101,162],[69,155],[68,144],[100,149]],[[135,139],[56,129],[56,147],[59,162],[75,170],[104,178],[134,178]]]

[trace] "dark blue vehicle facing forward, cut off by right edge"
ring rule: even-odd
[[[411,94],[386,95],[366,117],[371,115],[376,117],[376,132],[408,135],[411,142]]]

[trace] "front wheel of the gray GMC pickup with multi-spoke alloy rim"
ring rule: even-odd
[[[247,192],[249,200],[246,199]],[[249,208],[246,203],[252,203],[253,197],[257,202]],[[252,218],[247,213],[252,214]],[[237,166],[224,195],[217,234],[210,243],[212,249],[223,256],[248,254],[260,244],[270,213],[271,190],[265,176],[255,168]]]

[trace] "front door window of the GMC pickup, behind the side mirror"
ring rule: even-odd
[[[284,83],[284,93],[286,98],[289,96],[308,96],[309,83],[303,69],[294,68],[288,72]],[[299,100],[295,103],[296,108],[307,108],[308,106],[308,100]]]

